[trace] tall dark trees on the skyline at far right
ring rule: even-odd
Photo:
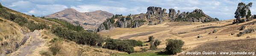
[[[252,14],[250,11],[250,7],[252,7],[253,3],[248,3],[247,5],[245,3],[238,3],[238,7],[235,11],[235,18],[236,20],[234,20],[234,23],[241,23],[241,22],[245,22],[244,19],[241,18],[246,18],[248,19]]]

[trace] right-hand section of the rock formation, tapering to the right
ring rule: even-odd
[[[182,12],[178,10],[176,14],[175,9],[169,9],[169,17],[171,17],[172,21],[181,21],[181,22],[212,22],[217,21],[216,19],[209,17],[208,15],[204,14],[202,10],[195,9],[192,12]]]

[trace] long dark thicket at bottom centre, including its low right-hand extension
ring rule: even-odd
[[[136,41],[134,39],[106,39],[106,44],[103,45],[103,48],[111,49],[111,50],[118,50],[124,51],[127,53],[133,53],[135,46],[142,46],[141,41]]]

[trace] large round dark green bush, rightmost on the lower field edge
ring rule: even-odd
[[[165,50],[168,53],[176,55],[177,53],[181,52],[181,50],[182,50],[181,48],[184,45],[184,42],[182,40],[179,40],[179,39],[167,39],[166,41],[167,41],[167,43],[166,43]]]

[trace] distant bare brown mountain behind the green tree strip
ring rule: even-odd
[[[81,25],[85,29],[97,28],[107,18],[112,17],[114,14],[107,11],[90,11],[90,12],[79,12],[74,8],[66,8],[62,11],[47,15],[47,18],[58,18],[67,20],[76,25]],[[96,26],[96,27],[95,27]]]

